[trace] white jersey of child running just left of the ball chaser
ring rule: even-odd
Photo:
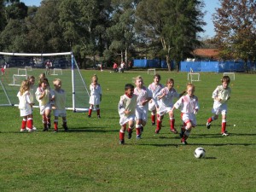
[[[160,96],[161,95],[165,95],[165,96],[163,96],[160,99],[160,108],[162,108],[162,107],[172,108],[173,98],[179,97],[179,94],[177,93],[177,91],[174,88],[169,90],[167,87],[160,90]]]

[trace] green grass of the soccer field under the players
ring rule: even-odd
[[[146,71],[82,71],[87,84],[94,73],[103,90],[102,119],[96,119],[96,113],[88,119],[86,113],[68,111],[70,132],[43,132],[35,108],[38,131],[20,133],[18,108],[0,108],[0,191],[256,191],[255,75],[237,73],[230,83],[230,137],[221,137],[221,119],[210,130],[205,125],[212,115],[212,91],[222,74],[201,73],[201,81],[194,82],[201,109],[189,145],[180,144],[165,117],[160,134],[154,134],[148,119],[142,140],[137,141],[133,133],[120,146],[117,105],[124,85],[140,74],[148,86],[153,76]],[[178,92],[188,83],[187,73],[160,75],[162,84],[175,79]],[[176,111],[176,127],[180,124]],[[195,159],[197,147],[206,149],[205,159]]]

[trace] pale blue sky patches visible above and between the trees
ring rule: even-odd
[[[20,2],[25,3],[27,6],[40,6],[41,0],[20,0]],[[203,11],[207,11],[207,14],[204,16],[204,20],[207,22],[207,26],[203,26],[203,29],[206,32],[200,33],[200,35],[201,38],[212,38],[215,35],[212,23],[212,14],[216,12],[215,9],[219,7],[219,3],[218,0],[204,0],[204,2],[206,6]]]

